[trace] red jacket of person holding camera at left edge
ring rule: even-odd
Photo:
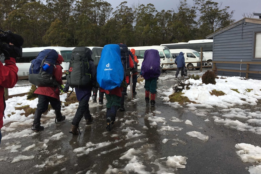
[[[3,117],[5,111],[5,90],[15,86],[18,76],[18,67],[15,65],[15,59],[5,60],[5,65],[0,62],[0,129],[3,127]]]

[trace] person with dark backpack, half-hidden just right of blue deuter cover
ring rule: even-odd
[[[120,50],[121,50],[121,61],[124,67],[124,71],[125,71],[125,75],[126,75],[126,82],[127,82],[127,86],[123,87],[123,91],[121,93],[121,106],[119,108],[120,111],[124,111],[125,107],[124,107],[124,100],[125,100],[125,96],[127,96],[127,87],[130,84],[130,72],[131,72],[131,68],[134,67],[134,63],[132,61],[131,58],[131,52],[128,50],[128,47],[126,44],[118,44],[120,46]]]

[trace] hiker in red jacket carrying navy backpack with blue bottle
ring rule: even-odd
[[[50,49],[43,50],[32,61],[29,72],[35,71],[35,69],[33,69],[33,68],[38,67],[37,65],[39,65],[39,64],[37,63],[37,61],[38,60],[40,61],[40,59],[42,60],[42,61],[40,61],[40,62],[42,62],[40,64],[40,66],[44,65],[43,64],[44,62],[46,62],[46,63],[48,62],[51,64],[51,62],[49,62],[49,57],[52,57],[54,60],[56,59],[55,64],[53,64],[53,66],[48,65],[48,70],[49,71],[52,70],[51,78],[54,79],[56,84],[48,85],[48,83],[46,83],[46,86],[44,86],[44,82],[41,82],[43,85],[38,86],[34,92],[34,94],[38,95],[38,104],[37,104],[37,108],[35,110],[35,115],[34,115],[35,119],[34,119],[33,125],[31,126],[31,130],[35,130],[35,131],[44,130],[44,126],[40,126],[41,125],[40,119],[41,119],[42,113],[44,113],[48,109],[49,103],[51,104],[51,107],[55,110],[55,123],[56,123],[56,120],[58,123],[65,120],[65,116],[62,116],[62,114],[61,114],[60,87],[59,87],[59,85],[63,84],[62,67],[61,67],[61,63],[64,61],[63,57],[60,54],[58,54],[55,50],[50,50]],[[42,67],[38,67],[38,68],[43,69]],[[42,71],[42,72],[44,72],[44,71]],[[48,74],[48,73],[43,73],[43,74]],[[42,75],[42,76],[44,76],[44,75]],[[37,81],[35,81],[36,79],[31,78],[31,77],[34,77],[33,74],[29,74],[29,77],[31,79],[30,80],[31,83],[37,84]],[[42,79],[44,79],[44,78],[45,77],[42,77]],[[34,80],[32,80],[32,79],[34,79]],[[41,79],[39,79],[39,80],[41,80]],[[49,81],[51,81],[51,80],[49,80]]]

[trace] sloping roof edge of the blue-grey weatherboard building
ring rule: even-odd
[[[220,33],[223,33],[231,28],[234,28],[242,23],[245,23],[245,22],[248,22],[248,23],[253,23],[253,24],[261,24],[261,19],[258,19],[258,18],[242,18],[241,20],[239,21],[236,21],[235,23],[231,24],[231,25],[228,25],[226,26],[225,28],[222,28],[218,31],[215,31],[214,33],[210,34],[210,35],[207,35],[206,36],[206,39],[213,39],[214,36],[220,34]]]

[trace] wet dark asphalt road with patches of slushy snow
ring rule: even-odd
[[[173,75],[175,71],[167,71],[167,74]],[[162,74],[164,76],[165,74]],[[168,89],[177,83],[176,79],[158,80],[158,88]],[[80,123],[81,135],[73,136],[68,133],[71,126],[71,119],[67,119],[60,124],[50,123],[50,126],[44,131],[22,138],[12,138],[2,141],[0,150],[0,168],[1,174],[7,173],[105,173],[109,168],[123,169],[128,160],[120,160],[120,157],[130,148],[140,149],[137,157],[146,166],[148,173],[158,172],[158,165],[155,161],[166,166],[165,161],[161,158],[168,156],[186,156],[187,164],[185,169],[169,170],[175,174],[249,174],[247,167],[256,165],[254,163],[243,163],[236,154],[237,143],[249,143],[260,146],[261,136],[249,131],[241,132],[236,129],[224,126],[221,123],[215,123],[212,118],[214,112],[220,112],[220,108],[206,109],[197,108],[195,111],[188,110],[188,107],[173,108],[164,104],[157,95],[155,107],[150,107],[145,103],[144,88],[137,90],[138,98],[136,103],[130,102],[130,97],[126,98],[126,111],[117,113],[118,121],[114,123],[113,130],[107,132],[105,129],[105,105],[98,105],[91,108],[94,114],[94,123],[85,126],[84,119]],[[257,106],[256,106],[257,107]],[[256,107],[249,108],[254,110]],[[240,106],[246,109],[248,106]],[[183,128],[181,131],[159,131],[162,122],[156,126],[150,126],[148,114],[157,111],[154,116],[164,117],[166,125]],[[158,114],[158,112],[161,112]],[[206,116],[198,116],[195,113],[204,113]],[[69,114],[69,113],[68,113]],[[66,115],[66,114],[65,114]],[[68,116],[67,116],[68,117]],[[172,117],[177,117],[183,122],[169,121]],[[49,119],[48,117],[42,117]],[[209,122],[204,120],[209,119]],[[126,120],[134,120],[129,125],[123,124]],[[190,120],[193,126],[184,124],[185,120]],[[148,129],[144,129],[147,126]],[[134,138],[126,138],[128,127],[131,130],[138,130],[142,135]],[[22,131],[28,129],[30,132],[31,125],[18,126],[13,131]],[[189,131],[198,131],[209,136],[207,142],[203,142],[195,137],[186,135]],[[60,140],[50,139],[54,134],[63,132]],[[12,131],[11,131],[12,133]],[[31,132],[32,133],[32,132]],[[115,134],[115,136],[111,136]],[[4,135],[3,135],[4,136]],[[47,141],[47,139],[50,139]],[[169,139],[167,143],[162,143],[163,139]],[[178,139],[178,140],[177,140]],[[140,140],[140,142],[136,142]],[[107,146],[93,149],[88,154],[73,152],[74,149],[86,146],[86,143],[94,144],[101,142],[113,142]],[[134,143],[135,142],[135,143]],[[4,148],[7,144],[21,145],[22,148],[18,152],[10,152]],[[177,143],[177,146],[172,145]],[[35,148],[22,152],[27,146],[35,144]],[[47,146],[47,147],[46,147]],[[14,157],[19,155],[35,156],[33,159],[21,160],[11,163]],[[58,155],[64,155],[58,158]],[[45,167],[35,167],[36,165],[45,165]],[[124,172],[121,170],[117,173],[135,173]],[[137,172],[136,172],[137,173]]]

